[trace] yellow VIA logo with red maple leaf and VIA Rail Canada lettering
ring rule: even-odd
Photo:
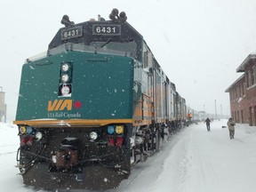
[[[82,103],[79,100],[73,103],[73,100],[49,100],[48,101],[48,118],[58,117],[81,117],[79,112],[69,113],[73,106],[78,110],[82,107]]]

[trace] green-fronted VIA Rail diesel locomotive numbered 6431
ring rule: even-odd
[[[143,36],[124,12],[109,19],[64,15],[47,52],[22,66],[14,124],[24,184],[116,188],[186,120],[186,100]]]

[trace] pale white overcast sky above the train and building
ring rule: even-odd
[[[75,23],[108,19],[113,8],[144,36],[190,108],[229,114],[225,92],[236,68],[256,52],[255,0],[8,0],[0,2],[0,86],[7,120],[15,118],[21,66],[45,52],[64,14]]]

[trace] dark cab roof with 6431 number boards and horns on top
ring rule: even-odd
[[[113,11],[112,11],[113,12]],[[111,14],[109,18],[111,18]],[[118,11],[117,11],[118,12]],[[70,21],[68,15],[64,15],[61,23],[65,25],[60,28],[57,34],[53,37],[52,42],[48,46],[48,50],[61,44],[73,43],[89,45],[91,42],[131,42],[140,43],[143,36],[120,16],[115,15],[112,20],[104,20],[99,17],[98,20],[88,20],[82,23],[75,24]],[[116,13],[114,13],[116,14]],[[125,13],[124,13],[125,14]]]

